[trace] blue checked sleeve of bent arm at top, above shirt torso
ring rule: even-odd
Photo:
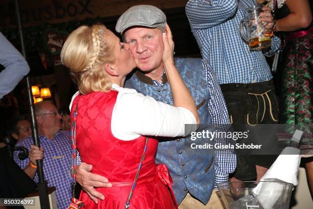
[[[238,0],[190,0],[186,14],[192,29],[204,29],[219,25],[233,16]]]

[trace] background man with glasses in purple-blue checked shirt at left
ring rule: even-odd
[[[29,158],[20,160],[18,152],[14,160],[25,173],[38,182],[36,160],[43,159],[43,174],[48,186],[56,187],[57,207],[66,208],[71,199],[71,178],[68,174],[71,162],[70,131],[61,131],[61,118],[57,107],[50,101],[35,104],[40,149],[33,145],[33,137],[16,144],[29,151]],[[44,150],[44,152],[43,152]]]

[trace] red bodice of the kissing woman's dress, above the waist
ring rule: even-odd
[[[84,162],[94,164],[94,173],[106,176],[111,182],[125,182],[135,178],[145,147],[145,137],[123,141],[113,136],[111,116],[117,95],[117,91],[111,90],[108,93],[94,92],[79,96],[77,148]],[[76,107],[76,102],[73,107]],[[157,146],[157,140],[149,140],[144,165],[154,163]]]

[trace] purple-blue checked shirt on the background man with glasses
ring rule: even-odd
[[[56,187],[56,198],[58,208],[67,208],[71,201],[71,178],[69,176],[71,161],[71,138],[69,131],[60,131],[54,139],[39,136],[40,146],[44,149],[43,154],[43,175],[48,180],[48,186]],[[27,137],[18,142],[15,147],[25,147],[30,151],[33,144],[33,138]],[[18,159],[18,153],[14,152],[14,161],[25,169],[29,164],[29,158],[25,160]],[[34,181],[38,182],[36,173]]]

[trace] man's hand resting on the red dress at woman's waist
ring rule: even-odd
[[[98,198],[104,200],[104,196],[94,187],[111,187],[112,184],[108,182],[107,178],[91,173],[92,170],[93,165],[82,162],[76,168],[76,181],[88,196],[98,204]]]

